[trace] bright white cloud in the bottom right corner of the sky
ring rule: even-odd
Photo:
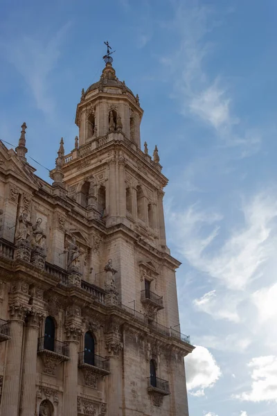
[[[277,402],[277,356],[253,358],[248,367],[251,369],[251,390],[233,397],[242,401]]]

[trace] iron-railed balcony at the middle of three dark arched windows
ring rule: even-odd
[[[96,388],[98,379],[109,374],[109,358],[82,351],[79,352],[78,367],[84,375],[84,383]]]

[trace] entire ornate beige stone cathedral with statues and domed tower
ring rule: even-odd
[[[50,172],[0,141],[0,415],[188,416],[157,146],[109,45]]]

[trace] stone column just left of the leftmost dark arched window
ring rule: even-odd
[[[24,371],[22,376],[23,395],[21,401],[21,416],[35,414],[37,375],[37,338],[39,333],[39,322],[43,313],[34,307],[27,314],[26,344],[24,356]]]

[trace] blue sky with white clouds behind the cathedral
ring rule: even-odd
[[[145,111],[142,141],[169,177],[168,245],[191,416],[277,408],[276,13],[274,0],[2,0],[0,138],[53,168],[78,128],[103,41]],[[29,162],[33,165],[32,160]],[[48,180],[46,169],[37,173]]]

